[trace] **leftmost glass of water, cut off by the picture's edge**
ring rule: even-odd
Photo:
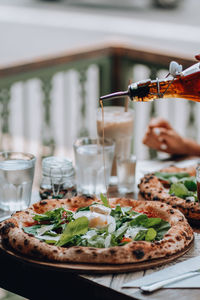
[[[0,208],[2,210],[14,212],[30,205],[35,161],[35,156],[28,153],[0,153]]]

